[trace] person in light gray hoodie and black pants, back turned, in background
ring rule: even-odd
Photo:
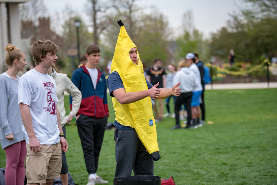
[[[179,97],[176,97],[176,102],[175,102],[175,120],[176,120],[176,125],[172,127],[171,129],[180,129],[180,118],[179,118],[179,110],[183,102],[185,101],[185,105],[187,108],[187,113],[188,113],[188,120],[187,120],[187,125],[186,129],[190,128],[197,128],[197,125],[191,125],[190,120],[191,120],[191,98],[193,95],[193,90],[197,87],[197,78],[195,74],[189,70],[189,62],[186,60],[181,60],[179,62],[179,68],[180,71],[177,71],[175,73],[175,76],[173,78],[173,84],[176,82],[181,82],[179,87],[181,88],[181,94]]]

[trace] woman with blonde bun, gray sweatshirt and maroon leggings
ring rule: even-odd
[[[6,154],[6,185],[24,184],[25,134],[17,105],[17,73],[24,71],[25,55],[12,44],[5,47],[8,70],[0,75],[0,143]],[[1,159],[2,160],[2,159]]]

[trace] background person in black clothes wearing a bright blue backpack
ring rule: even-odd
[[[202,117],[201,117],[201,122],[200,123],[205,123],[205,104],[204,104],[204,91],[205,91],[205,83],[203,81],[203,76],[205,74],[205,71],[204,71],[204,67],[203,67],[203,63],[198,59],[198,54],[197,53],[194,53],[194,58],[195,58],[195,64],[198,66],[198,69],[200,71],[200,76],[201,76],[201,84],[202,84],[202,87],[203,87],[203,91],[202,91],[202,94],[201,94],[201,100],[202,102],[200,102],[200,109],[201,109],[201,112],[202,112]]]

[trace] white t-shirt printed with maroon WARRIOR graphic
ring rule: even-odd
[[[40,144],[52,145],[60,142],[57,122],[55,80],[35,69],[26,72],[18,80],[18,105],[29,105],[32,125]],[[26,143],[29,137],[23,125]]]

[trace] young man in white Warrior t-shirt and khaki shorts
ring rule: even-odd
[[[56,103],[55,80],[47,74],[55,67],[58,46],[39,40],[31,46],[36,67],[18,81],[18,105],[26,135],[27,184],[52,184],[61,171],[61,150],[68,149]]]

